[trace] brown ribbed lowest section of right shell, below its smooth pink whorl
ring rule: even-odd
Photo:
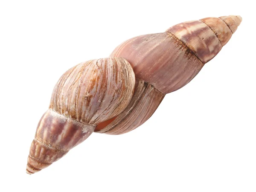
[[[159,106],[165,94],[151,84],[137,80],[134,96],[128,107],[98,133],[124,134],[142,125]]]

